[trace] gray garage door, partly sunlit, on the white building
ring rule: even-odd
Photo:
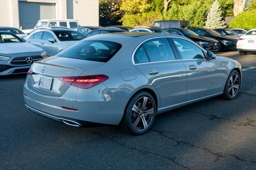
[[[22,29],[31,29],[38,20],[55,19],[55,4],[19,2],[19,14]]]

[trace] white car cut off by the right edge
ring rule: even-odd
[[[251,29],[242,35],[236,43],[236,49],[240,55],[246,55],[248,52],[256,52],[256,29]]]

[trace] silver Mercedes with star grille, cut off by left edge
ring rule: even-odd
[[[33,61],[47,56],[47,53],[26,43],[10,31],[0,31],[0,76],[28,72]]]

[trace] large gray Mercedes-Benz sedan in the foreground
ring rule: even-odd
[[[156,33],[101,34],[32,64],[25,105],[72,126],[121,125],[143,134],[155,116],[241,86],[241,64],[192,40]]]

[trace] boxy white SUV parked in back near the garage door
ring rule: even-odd
[[[38,27],[78,27],[77,20],[39,20],[34,28]],[[22,29],[24,33],[30,33],[33,29]]]

